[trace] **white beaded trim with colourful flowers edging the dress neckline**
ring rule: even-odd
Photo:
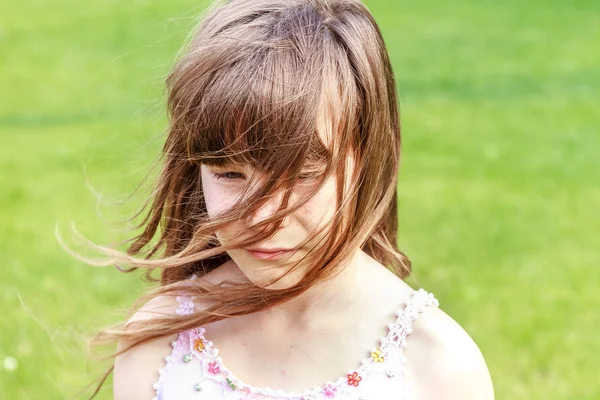
[[[177,313],[180,315],[187,315],[194,312],[194,303],[187,297],[178,296],[177,301],[179,302],[179,308]],[[321,387],[315,387],[303,392],[288,392],[284,390],[275,390],[270,387],[258,388],[252,385],[244,383],[241,379],[237,378],[233,372],[231,372],[225,365],[223,365],[221,357],[218,356],[219,350],[213,346],[210,340],[204,337],[204,328],[195,328],[189,331],[191,334],[186,335],[188,338],[187,349],[190,349],[190,353],[184,356],[185,362],[190,362],[192,356],[199,359],[202,363],[203,377],[201,382],[196,383],[196,390],[201,390],[201,383],[204,380],[210,380],[219,383],[223,386],[224,390],[239,391],[244,393],[246,396],[253,394],[267,396],[276,399],[288,399],[288,400],[314,400],[314,399],[334,399],[338,398],[338,395],[344,393],[356,393],[360,394],[360,382],[371,372],[375,372],[378,368],[381,372],[385,373],[388,377],[392,378],[399,375],[402,377],[403,384],[406,390],[410,393],[411,388],[408,385],[405,376],[405,357],[403,350],[406,348],[406,337],[412,332],[412,323],[417,316],[425,310],[427,306],[439,306],[438,300],[433,294],[426,292],[424,289],[415,290],[408,300],[406,306],[403,309],[399,309],[396,312],[398,318],[395,323],[388,325],[388,334],[379,340],[380,346],[374,349],[370,356],[362,360],[361,365],[355,370],[349,370],[346,376],[341,376],[335,381],[327,382]],[[186,341],[181,340],[183,336],[180,334],[176,341],[172,343],[173,352],[184,345]],[[397,348],[400,350],[400,361],[401,365],[398,370],[390,368],[386,362],[386,356],[389,348]],[[167,365],[165,368],[159,371],[159,380],[155,383],[154,388],[156,389],[157,396],[153,400],[162,400],[162,382],[163,377],[166,375],[169,369],[169,365],[172,363],[172,356],[165,358]],[[358,397],[359,400],[364,399],[363,396]]]

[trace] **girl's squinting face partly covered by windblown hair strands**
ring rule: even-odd
[[[349,162],[353,164],[351,157],[349,157]],[[268,176],[261,174],[264,173],[247,165],[225,167],[202,165],[202,186],[209,218],[212,219],[232,207],[248,185],[250,177],[258,178],[259,182],[269,179]],[[305,198],[313,189],[313,185],[316,185],[313,179],[303,179],[294,187],[290,204],[295,204],[298,200]],[[256,285],[284,288],[295,284],[302,278],[303,268],[289,273],[273,285],[269,285],[269,282],[287,271],[287,268],[282,269],[277,266],[284,263],[293,265],[318,243],[323,234],[326,234],[325,232],[320,237],[316,236],[318,229],[330,222],[335,214],[336,193],[336,178],[330,176],[304,206],[286,217],[281,228],[273,237],[248,249],[231,250],[228,252],[229,256],[246,277]],[[219,242],[225,245],[231,238],[239,238],[240,235],[245,238],[252,237],[253,233],[250,227],[276,212],[282,197],[283,193],[274,195],[246,221],[238,221],[227,229],[217,231]],[[310,241],[301,247],[300,244],[309,238]]]

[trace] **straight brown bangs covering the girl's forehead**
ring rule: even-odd
[[[265,171],[327,164],[330,150],[316,123],[320,97],[321,80],[293,55],[256,49],[252,59],[216,72],[204,88],[188,157]]]

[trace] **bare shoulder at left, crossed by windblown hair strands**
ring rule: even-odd
[[[174,315],[177,301],[172,296],[159,296],[148,301],[128,321],[133,326],[140,321]],[[115,400],[151,399],[158,370],[164,366],[165,356],[171,352],[170,343],[176,338],[163,337],[139,344],[115,358],[113,394]],[[117,352],[126,349],[130,342],[120,341]]]

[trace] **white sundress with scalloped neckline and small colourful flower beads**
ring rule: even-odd
[[[194,312],[187,297],[177,298],[177,313]],[[227,369],[202,327],[181,332],[171,343],[166,365],[154,384],[154,400],[411,400],[405,376],[404,348],[411,326],[428,306],[439,306],[433,294],[415,290],[389,332],[367,358],[347,375],[303,392],[288,392],[244,383]],[[275,383],[276,384],[276,383]]]

